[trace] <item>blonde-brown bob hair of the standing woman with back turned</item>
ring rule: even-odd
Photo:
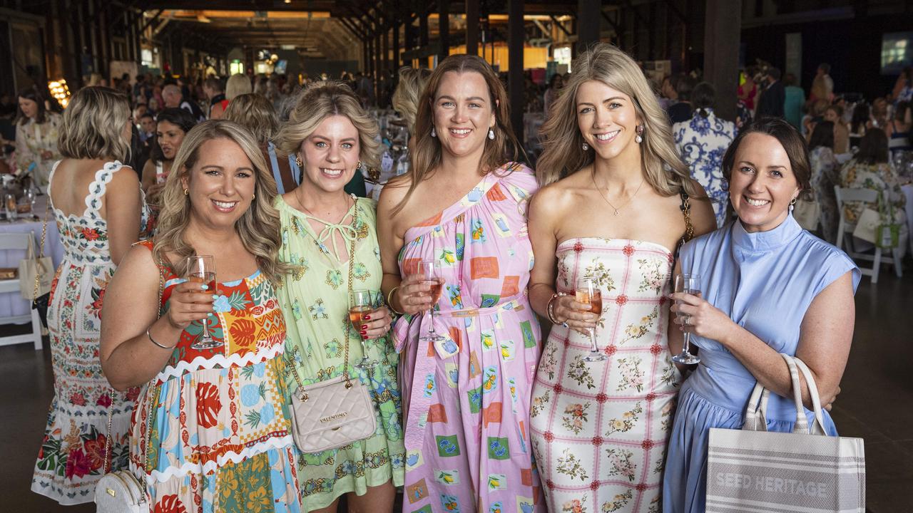
[[[58,151],[68,159],[130,158],[123,126],[130,120],[130,98],[119,90],[89,87],[77,91],[63,113]]]

